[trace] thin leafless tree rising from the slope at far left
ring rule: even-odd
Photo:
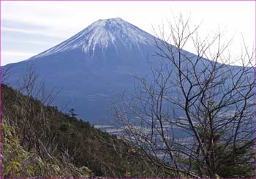
[[[50,132],[50,119],[43,104],[52,104],[59,91],[47,90],[45,84],[39,82],[34,66],[28,67],[18,85],[18,91],[11,96],[16,107],[15,113],[10,113],[9,108],[4,106],[4,117],[11,126],[17,126],[21,137],[20,145],[26,148],[26,151],[35,149],[39,156],[50,156],[50,153],[56,151],[58,144],[55,134]]]

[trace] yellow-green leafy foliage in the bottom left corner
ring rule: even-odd
[[[2,119],[2,178],[89,178],[87,167],[75,167],[71,163],[51,156],[42,159],[37,153],[27,152],[20,146],[14,127]]]

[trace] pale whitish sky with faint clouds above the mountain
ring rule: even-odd
[[[172,12],[202,22],[202,35],[218,27],[227,39],[235,35],[235,52],[241,50],[241,34],[249,46],[255,44],[255,1],[2,1],[1,65],[47,50],[99,18],[123,18],[152,34],[152,26]]]

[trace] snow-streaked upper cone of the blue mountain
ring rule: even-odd
[[[97,48],[104,52],[109,46],[118,50],[120,47],[129,49],[132,47],[140,48],[140,45],[153,44],[154,37],[151,34],[121,18],[99,19],[78,34],[75,34],[75,36],[32,58],[73,49],[81,49],[84,53],[90,53],[93,56]]]

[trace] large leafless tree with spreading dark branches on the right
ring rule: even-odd
[[[254,167],[255,50],[244,43],[231,58],[231,41],[219,31],[201,39],[181,15],[169,26],[170,35],[162,28],[156,39],[162,63],[151,66],[153,80],[138,78],[135,96],[116,106],[124,140],[176,177],[228,177],[227,166]]]

